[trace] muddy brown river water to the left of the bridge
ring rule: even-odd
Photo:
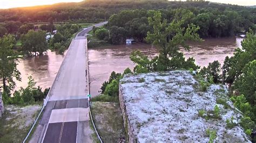
[[[22,82],[16,81],[17,87],[26,87],[28,76],[32,75],[37,86],[49,88],[59,70],[64,55],[48,51],[42,56],[33,56],[19,59],[18,70],[21,72]]]

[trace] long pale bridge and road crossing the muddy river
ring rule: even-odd
[[[29,142],[92,142],[87,98],[89,78],[86,33],[90,30],[92,26],[84,28],[71,41],[46,97],[42,118]]]

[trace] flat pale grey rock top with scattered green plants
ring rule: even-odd
[[[126,75],[119,85],[119,101],[129,142],[208,142],[206,130],[216,131],[217,142],[250,142],[237,124],[241,116],[223,85],[200,91],[189,71]],[[224,103],[217,104],[221,100]],[[214,118],[214,106],[220,109]],[[199,110],[204,110],[199,116]]]

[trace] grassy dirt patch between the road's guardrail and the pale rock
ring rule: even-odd
[[[125,142],[123,117],[118,103],[92,102],[91,110],[104,142]]]

